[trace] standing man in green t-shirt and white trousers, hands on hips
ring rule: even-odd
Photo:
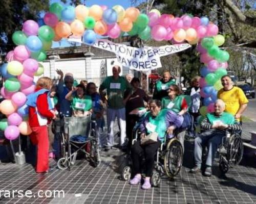
[[[125,104],[131,96],[132,87],[124,77],[120,77],[121,65],[116,63],[112,68],[113,75],[107,77],[99,87],[100,95],[102,91],[106,89],[108,99],[104,99],[104,103],[108,106],[106,120],[108,123],[108,138],[106,147],[109,148],[114,145],[114,123],[117,117],[120,125],[120,145],[123,145],[125,139]],[[129,94],[124,98],[124,92],[127,90]],[[104,98],[104,97],[102,97]]]

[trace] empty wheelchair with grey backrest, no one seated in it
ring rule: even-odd
[[[78,152],[83,152],[94,167],[100,164],[99,138],[96,121],[91,116],[63,117],[53,123],[60,135],[60,158],[57,166],[70,169],[75,164]]]

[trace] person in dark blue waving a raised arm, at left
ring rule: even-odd
[[[62,116],[70,117],[72,115],[72,109],[70,106],[70,101],[65,98],[65,96],[72,89],[74,78],[72,73],[66,73],[64,82],[63,82],[63,72],[59,69],[56,70],[57,74],[59,74],[60,79],[57,85],[57,96],[59,103],[59,113]]]

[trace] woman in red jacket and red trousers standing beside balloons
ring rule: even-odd
[[[49,170],[49,136],[47,125],[55,119],[53,105],[49,96],[52,80],[41,77],[36,83],[35,92],[28,95],[29,125],[32,129],[31,142],[37,145],[36,172],[43,173]]]

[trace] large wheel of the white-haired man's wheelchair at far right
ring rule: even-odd
[[[227,146],[227,161],[232,165],[238,165],[243,158],[244,146],[240,135],[234,134],[229,139]]]

